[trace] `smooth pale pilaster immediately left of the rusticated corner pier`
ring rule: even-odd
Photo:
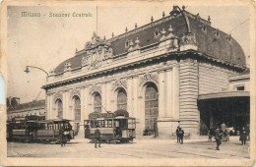
[[[172,86],[173,86],[173,82],[172,82],[172,71],[171,69],[166,70],[166,110],[164,113],[164,117],[173,117],[173,90],[172,90]]]

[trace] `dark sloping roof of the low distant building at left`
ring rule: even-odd
[[[9,111],[15,111],[15,110],[26,110],[26,109],[31,109],[31,108],[44,108],[45,107],[45,100],[38,100],[35,102],[27,102],[27,103],[22,103],[22,104],[18,104],[14,107],[9,107],[7,109],[7,112]]]

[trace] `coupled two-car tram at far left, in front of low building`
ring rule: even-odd
[[[16,117],[7,122],[7,140],[38,142],[60,141],[60,129],[63,129],[65,141],[74,139],[70,120],[43,120],[39,116]]]

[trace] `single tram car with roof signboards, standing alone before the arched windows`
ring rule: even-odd
[[[84,121],[85,138],[95,141],[96,128],[100,131],[100,140],[107,143],[130,141],[135,139],[136,119],[129,117],[125,110],[107,113],[91,113]]]

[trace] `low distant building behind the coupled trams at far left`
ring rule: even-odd
[[[11,120],[14,117],[25,117],[27,115],[45,116],[45,100],[28,102],[9,106],[7,108],[7,119]]]

